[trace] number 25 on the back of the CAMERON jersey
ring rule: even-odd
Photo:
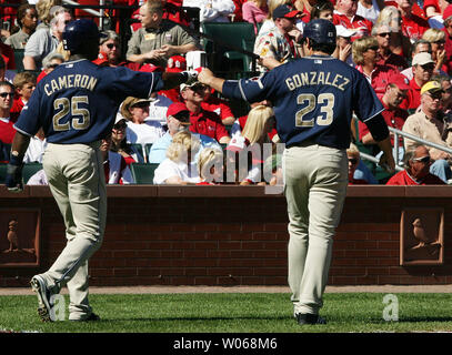
[[[69,131],[72,128],[74,130],[86,130],[90,125],[90,111],[81,106],[86,104],[88,106],[88,97],[72,97],[71,100],[68,98],[60,98],[54,100],[53,109],[57,113],[53,115],[53,131]],[[62,123],[61,121],[68,115],[72,118],[71,121]]]

